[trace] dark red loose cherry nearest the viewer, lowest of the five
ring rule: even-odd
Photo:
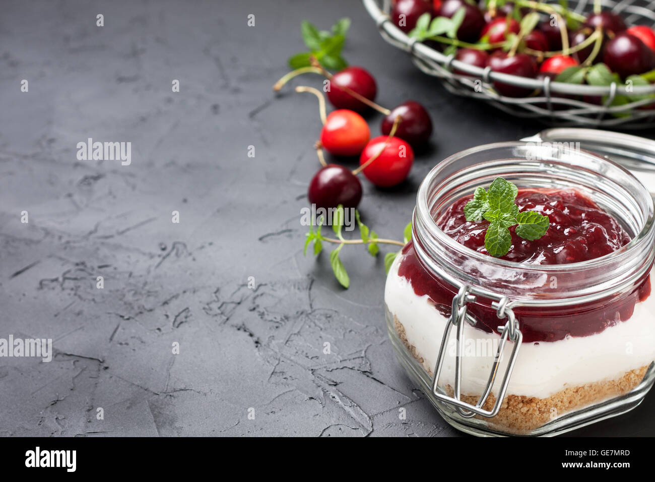
[[[362,199],[362,183],[350,169],[337,164],[322,167],[309,183],[309,202],[317,208],[357,207]]]

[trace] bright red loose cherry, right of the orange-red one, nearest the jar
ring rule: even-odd
[[[374,137],[366,144],[360,156],[360,166],[366,161],[382,153],[371,164],[364,168],[364,176],[375,186],[388,188],[396,186],[407,178],[414,162],[414,151],[411,146],[398,137],[392,137],[388,145],[388,136]]]

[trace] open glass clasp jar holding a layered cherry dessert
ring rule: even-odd
[[[447,207],[498,176],[574,189],[631,241],[601,258],[535,266],[438,228]],[[487,144],[432,169],[384,301],[398,358],[441,416],[475,435],[555,435],[639,405],[655,380],[653,212],[626,169],[557,144]]]

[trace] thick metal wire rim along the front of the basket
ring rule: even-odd
[[[451,71],[451,68],[455,68],[470,75],[475,75],[485,83],[498,81],[510,85],[515,85],[517,87],[525,87],[526,89],[548,89],[551,92],[570,95],[610,96],[611,98],[614,98],[614,96],[619,93],[621,87],[624,86],[624,83],[618,84],[616,82],[612,82],[612,84],[608,86],[597,86],[555,82],[551,81],[549,77],[544,77],[543,80],[531,79],[529,77],[521,77],[519,75],[495,72],[492,71],[490,67],[483,69],[477,66],[472,66],[471,64],[466,64],[465,62],[455,60],[455,54],[446,56],[438,50],[434,50],[424,43],[410,38],[405,32],[394,25],[388,14],[386,14],[386,12],[384,12],[379,7],[376,0],[362,0],[362,3],[364,3],[364,8],[369,13],[369,16],[375,20],[375,24],[381,31],[381,35],[387,35],[392,45],[396,45],[396,47],[407,50],[407,52],[413,56],[423,58],[424,60],[437,62],[447,71]],[[655,94],[655,84],[633,86],[630,94]],[[637,100],[635,102],[639,101]]]

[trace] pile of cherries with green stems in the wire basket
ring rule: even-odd
[[[395,0],[390,16],[401,30],[415,36],[421,16],[457,14],[460,23],[454,38],[428,35],[421,40],[449,49],[456,60],[500,73],[555,79],[567,68],[602,62],[625,80],[654,70],[655,32],[647,26],[628,27],[618,14],[595,7],[585,17],[559,4],[532,0],[481,0],[479,5],[470,0]],[[458,13],[460,9],[463,13]],[[531,12],[538,14],[538,22],[525,28],[521,20]],[[494,87],[505,96],[532,93],[498,82]]]

